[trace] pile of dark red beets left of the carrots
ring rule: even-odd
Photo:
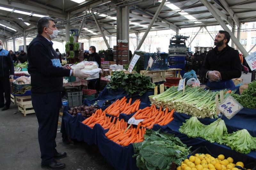
[[[68,113],[70,115],[73,115],[73,117],[75,117],[78,113],[81,113],[84,117],[90,117],[93,113],[96,112],[96,110],[98,110],[98,108],[99,106],[97,105],[81,105],[78,107],[70,108],[70,110],[68,110]]]

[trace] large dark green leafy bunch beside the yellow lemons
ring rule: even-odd
[[[172,162],[180,164],[187,158],[190,148],[173,134],[148,129],[144,141],[134,143],[133,149],[133,157],[136,157],[136,165],[140,170],[169,170]]]

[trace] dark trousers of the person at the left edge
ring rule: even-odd
[[[9,76],[0,77],[0,105],[9,107],[11,104],[11,88]]]

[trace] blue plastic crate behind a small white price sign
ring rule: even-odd
[[[148,67],[149,58],[152,57],[154,62],[148,70],[167,70],[168,54],[167,53],[145,53],[144,54],[144,70]]]

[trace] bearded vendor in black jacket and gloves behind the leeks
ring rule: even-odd
[[[232,78],[242,74],[239,52],[228,46],[230,35],[220,30],[215,36],[215,48],[210,50],[204,60],[201,74],[208,80],[207,89],[225,89],[235,87]]]

